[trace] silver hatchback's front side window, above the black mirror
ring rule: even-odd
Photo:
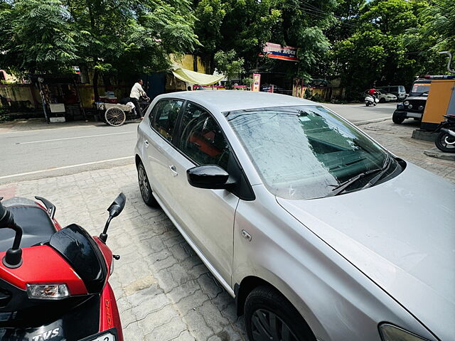
[[[218,123],[203,108],[188,103],[178,148],[199,165],[228,168],[230,147]]]

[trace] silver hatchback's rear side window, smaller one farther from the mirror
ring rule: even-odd
[[[183,101],[176,99],[162,99],[154,109],[151,126],[168,141],[172,141],[173,130],[182,104]]]

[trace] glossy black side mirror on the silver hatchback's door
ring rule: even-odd
[[[198,166],[186,171],[188,183],[193,187],[221,190],[228,188],[233,183],[228,182],[229,174],[216,165]]]

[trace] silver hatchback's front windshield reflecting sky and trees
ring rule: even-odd
[[[264,185],[278,197],[313,199],[383,166],[387,152],[317,105],[226,112]],[[359,189],[359,188],[356,188]]]

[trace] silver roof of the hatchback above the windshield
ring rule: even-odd
[[[163,94],[160,98],[180,98],[196,102],[203,107],[219,112],[255,109],[266,107],[286,107],[294,105],[315,105],[316,102],[287,94],[272,94],[245,90],[197,90]]]

